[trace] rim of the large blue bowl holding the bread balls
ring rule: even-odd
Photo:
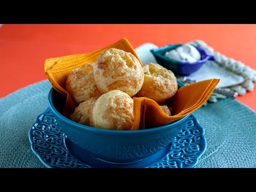
[[[183,83],[181,83],[179,80],[177,80],[178,84],[180,84],[181,86],[184,86]],[[62,114],[59,113],[59,111],[57,109],[55,109],[55,107],[53,106],[53,102],[52,102],[52,93],[53,91],[56,91],[53,89],[53,87],[51,88],[49,94],[48,94],[48,103],[49,103],[49,107],[52,111],[52,113],[56,116],[58,116],[59,119],[61,119],[61,121],[66,122],[67,124],[73,125],[74,127],[76,127],[77,129],[80,130],[86,130],[86,131],[91,131],[91,132],[101,132],[101,133],[108,133],[108,134],[134,134],[134,133],[146,133],[146,132],[157,132],[157,131],[162,131],[163,129],[165,129],[166,127],[174,127],[177,124],[179,124],[181,121],[185,121],[190,114],[186,115],[185,117],[182,117],[180,119],[178,119],[177,121],[174,121],[172,123],[166,124],[166,125],[162,125],[162,126],[158,126],[158,127],[153,127],[150,129],[145,129],[145,130],[107,130],[107,129],[100,129],[97,127],[91,127],[91,126],[86,126],[80,123],[76,123],[74,121],[71,121],[69,118],[63,116]]]

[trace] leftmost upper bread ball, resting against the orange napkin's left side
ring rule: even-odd
[[[101,95],[94,82],[93,65],[94,63],[87,63],[81,68],[73,69],[67,78],[66,90],[77,104]]]

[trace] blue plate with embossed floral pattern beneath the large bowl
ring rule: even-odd
[[[86,162],[82,162],[72,153],[74,144],[60,130],[50,109],[39,115],[29,130],[31,149],[46,167],[87,168],[87,167],[194,167],[206,149],[204,129],[191,114],[186,127],[156,154],[140,162],[127,165],[114,165],[102,162],[88,154]]]

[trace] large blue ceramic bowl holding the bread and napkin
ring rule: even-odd
[[[182,86],[180,82],[178,85]],[[73,142],[72,149],[69,149],[73,150],[71,153],[78,155],[89,153],[102,161],[115,164],[138,162],[163,149],[182,130],[190,116],[146,130],[105,130],[82,125],[63,116],[65,100],[61,93],[54,89],[50,90],[48,97],[50,109],[60,129]],[[79,156],[83,158],[83,155]]]

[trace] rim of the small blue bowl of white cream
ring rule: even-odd
[[[197,65],[197,64],[199,64],[199,63],[204,63],[204,62],[206,62],[207,60],[213,60],[213,61],[215,60],[214,56],[207,54],[203,49],[201,49],[200,47],[194,46],[194,45],[192,45],[192,46],[194,46],[194,47],[200,52],[201,58],[202,58],[201,52],[203,52],[203,54],[205,54],[205,58],[204,58],[204,59],[202,59],[202,60],[200,59],[199,61],[196,61],[196,62],[182,62],[182,61],[177,61],[177,60],[174,60],[174,59],[171,59],[171,58],[167,58],[165,55],[162,55],[162,54],[159,54],[159,53],[158,53],[159,50],[165,50],[165,49],[169,48],[171,45],[176,45],[176,46],[179,47],[179,46],[181,46],[181,45],[183,45],[183,44],[170,44],[170,45],[165,45],[165,46],[163,46],[163,47],[158,47],[158,48],[156,48],[156,49],[150,50],[150,52],[151,52],[154,56],[156,55],[157,57],[159,57],[159,58],[161,58],[161,59],[163,59],[163,60],[165,60],[165,61],[178,63],[178,64],[180,64],[180,65]]]

